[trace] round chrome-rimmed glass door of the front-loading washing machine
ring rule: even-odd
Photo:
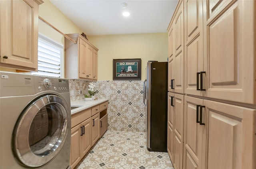
[[[13,132],[13,152],[26,167],[40,167],[59,152],[68,134],[68,104],[60,96],[43,95],[23,110]]]

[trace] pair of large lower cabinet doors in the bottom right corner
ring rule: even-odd
[[[184,169],[256,167],[256,110],[185,96]]]

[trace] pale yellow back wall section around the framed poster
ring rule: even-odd
[[[146,79],[148,61],[167,61],[168,34],[144,33],[129,35],[88,36],[98,51],[98,80],[113,79],[113,59],[142,59],[141,80]]]

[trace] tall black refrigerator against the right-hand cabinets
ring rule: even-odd
[[[167,152],[168,62],[149,61],[144,81],[148,151]]]

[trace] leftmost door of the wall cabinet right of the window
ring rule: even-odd
[[[87,43],[84,39],[78,38],[79,41],[79,77],[80,78],[87,78],[86,76],[86,51],[87,51]]]

